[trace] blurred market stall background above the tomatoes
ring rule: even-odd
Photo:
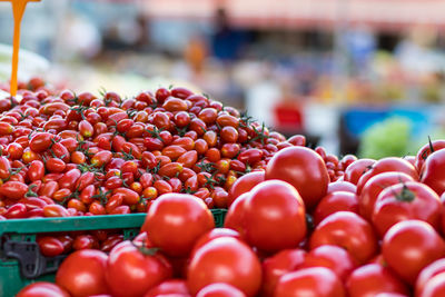
[[[19,78],[127,97],[186,86],[340,156],[413,155],[445,137],[444,11],[442,0],[42,0],[23,17]],[[1,81],[12,23],[0,2]]]

